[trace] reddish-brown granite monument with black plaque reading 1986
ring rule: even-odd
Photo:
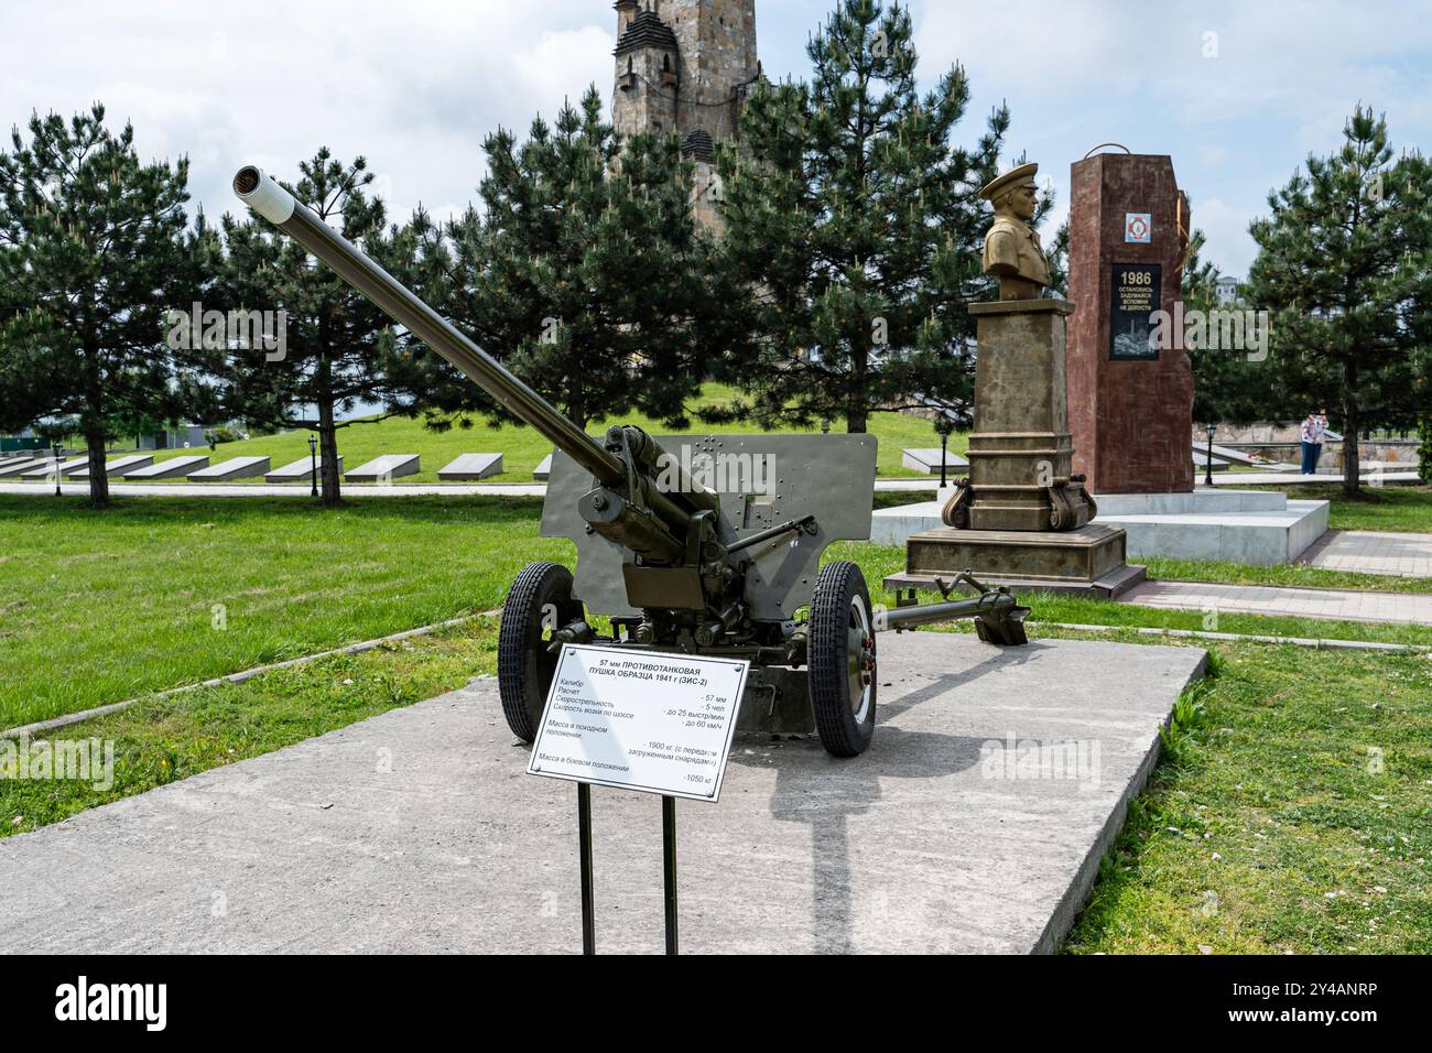
[[[1073,166],[1068,423],[1074,471],[1094,494],[1193,491],[1193,371],[1181,341],[1154,344],[1148,317],[1174,314],[1190,229],[1170,158]]]

